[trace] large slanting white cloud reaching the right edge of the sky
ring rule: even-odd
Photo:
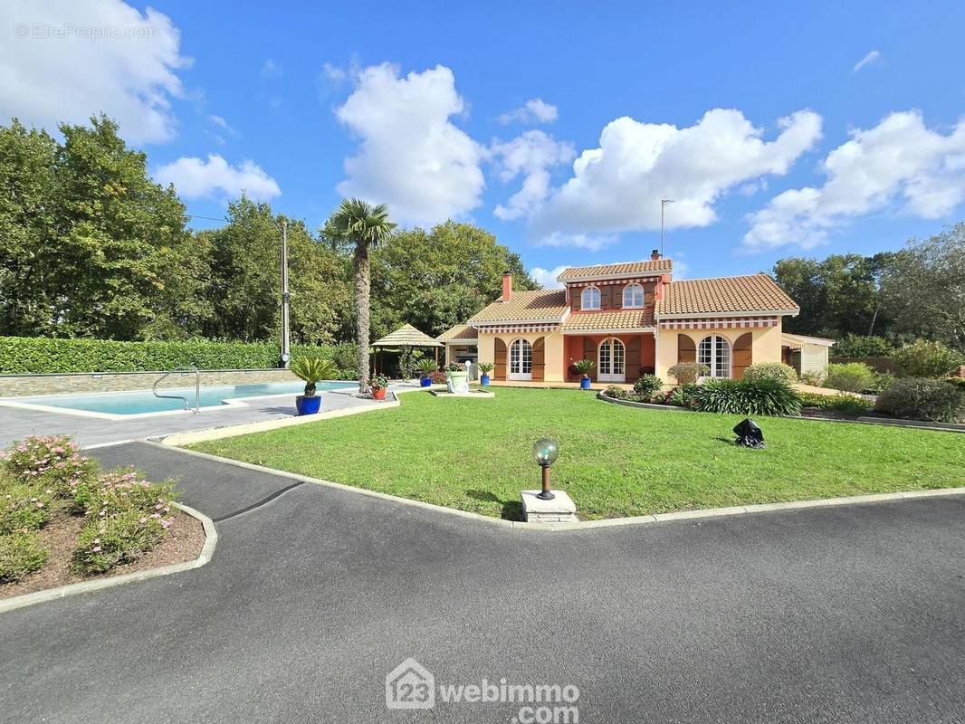
[[[751,214],[750,248],[821,243],[848,221],[896,209],[941,218],[965,201],[965,120],[948,135],[925,127],[921,113],[893,113],[828,153],[820,187],[791,189]]]

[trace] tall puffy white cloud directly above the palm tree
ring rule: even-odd
[[[388,63],[360,70],[335,110],[360,139],[358,153],[345,159],[339,193],[388,204],[403,224],[434,224],[479,207],[485,150],[450,121],[464,107],[444,66],[405,77]]]

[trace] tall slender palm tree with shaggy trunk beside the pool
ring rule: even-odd
[[[372,273],[369,250],[392,233],[396,225],[389,221],[385,204],[372,206],[360,199],[343,199],[339,208],[325,222],[322,234],[352,245],[355,269],[355,306],[358,313],[359,393],[369,392],[369,317]]]

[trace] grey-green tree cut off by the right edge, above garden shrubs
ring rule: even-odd
[[[911,239],[888,265],[882,297],[899,330],[965,352],[965,223]]]

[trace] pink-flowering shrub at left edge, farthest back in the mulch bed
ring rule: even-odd
[[[71,497],[97,470],[96,462],[82,456],[67,435],[25,437],[3,453],[3,466],[21,482],[52,488],[62,498]]]

